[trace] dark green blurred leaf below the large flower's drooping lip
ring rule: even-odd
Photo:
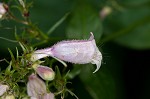
[[[86,65],[79,75],[92,99],[116,99],[115,81],[110,72],[105,69],[93,74],[93,70],[93,65]]]

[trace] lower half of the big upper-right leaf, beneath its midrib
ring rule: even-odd
[[[150,49],[150,24],[145,24],[116,41],[134,49]]]

